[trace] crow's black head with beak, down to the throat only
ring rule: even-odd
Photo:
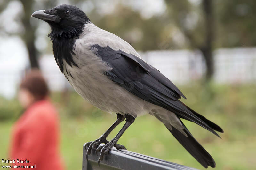
[[[73,5],[60,5],[49,10],[36,11],[32,17],[49,23],[52,29],[49,36],[52,39],[78,37],[84,24],[90,21],[82,10]]]

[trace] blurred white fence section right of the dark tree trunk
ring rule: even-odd
[[[256,82],[256,48],[216,50],[214,65],[214,79],[219,83]]]

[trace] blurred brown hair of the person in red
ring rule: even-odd
[[[36,100],[44,99],[48,93],[48,86],[39,70],[32,69],[28,72],[20,83],[20,89],[26,89]]]

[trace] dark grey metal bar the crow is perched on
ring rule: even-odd
[[[100,155],[96,155],[94,150],[88,155],[88,161],[85,155],[86,150],[83,147],[82,170],[196,170],[188,166],[175,164],[140,153],[123,149],[117,150],[115,147],[108,152],[108,155],[104,155],[104,159],[100,161],[100,166],[98,166]]]

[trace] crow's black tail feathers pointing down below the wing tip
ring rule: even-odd
[[[205,168],[208,166],[215,167],[215,162],[212,156],[199,144],[192,134],[188,131],[186,126],[182,123],[184,131],[188,137],[182,134],[179,130],[172,127],[168,129],[172,135],[180,142],[180,144]]]

